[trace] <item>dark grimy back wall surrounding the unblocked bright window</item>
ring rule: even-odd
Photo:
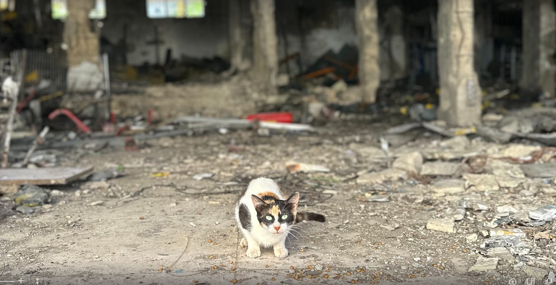
[[[162,63],[168,48],[172,49],[173,59],[182,56],[220,56],[227,59],[229,49],[226,1],[206,2],[204,18],[150,19],[147,17],[145,1],[107,1],[102,36],[114,45],[125,42],[127,63],[132,65],[156,63],[155,26],[158,26],[158,38],[161,42],[158,58]]]

